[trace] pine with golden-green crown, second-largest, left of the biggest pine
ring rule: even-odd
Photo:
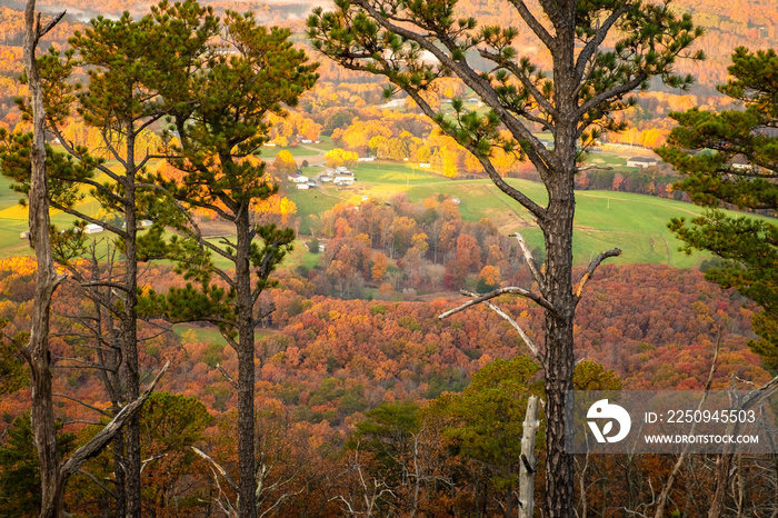
[[[163,93],[170,122],[180,143],[169,149],[169,162],[182,181],[156,182],[184,212],[167,220],[182,238],[164,245],[167,257],[179,261],[193,280],[166,296],[151,293],[150,313],[171,321],[209,321],[219,327],[238,353],[239,514],[255,517],[255,327],[269,315],[257,315],[262,291],[275,285],[271,273],[291,249],[295,232],[253,221],[252,207],[278,192],[255,159],[266,141],[270,113],[283,116],[318,78],[293,48],[286,29],[267,29],[251,14],[227,12],[221,21],[226,48],[211,49],[199,73],[183,88]],[[207,210],[235,228],[235,238],[212,242],[202,238],[193,210]],[[217,267],[211,256],[230,265]]]

